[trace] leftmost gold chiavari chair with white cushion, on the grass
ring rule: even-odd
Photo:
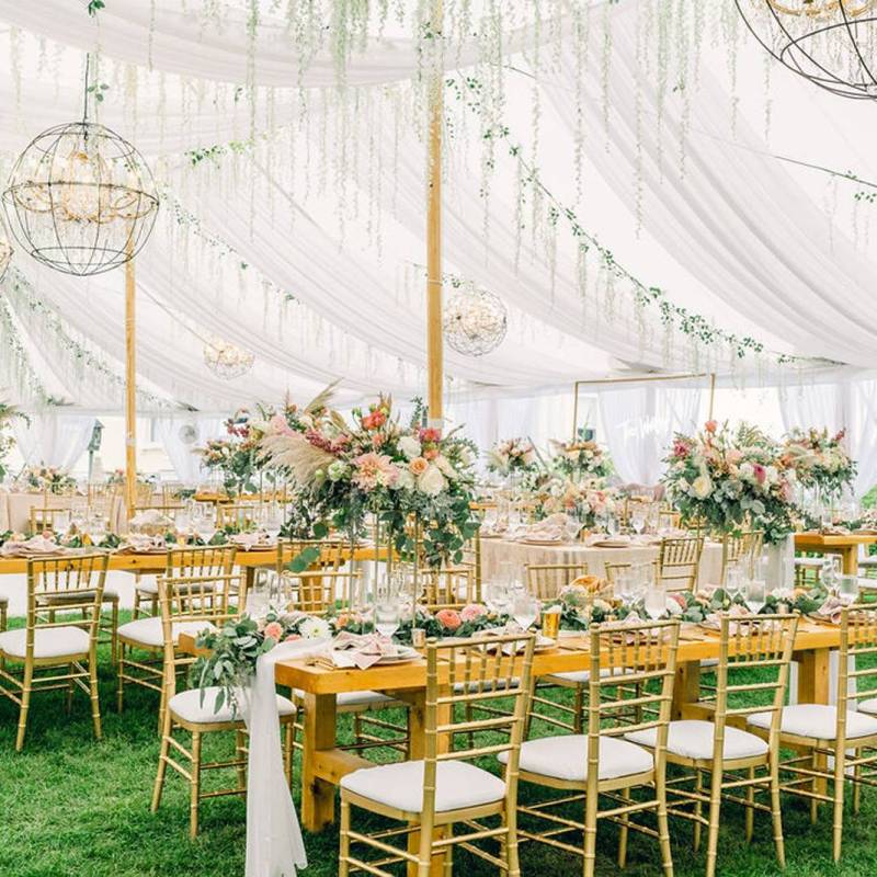
[[[98,627],[107,562],[104,554],[27,561],[25,626],[0,634],[0,694],[19,706],[16,752],[24,748],[31,697],[45,691],[66,690],[68,711],[76,690],[84,692],[101,739]],[[66,617],[56,620],[46,605],[59,597]]]

